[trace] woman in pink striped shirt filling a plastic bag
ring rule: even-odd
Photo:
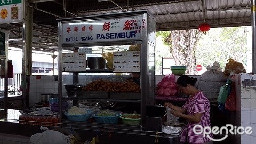
[[[201,125],[204,127],[211,127],[210,123],[210,102],[205,96],[205,94],[199,91],[195,87],[197,78],[189,77],[187,75],[182,75],[177,79],[177,85],[181,92],[189,95],[188,100],[182,107],[174,106],[172,103],[165,103],[165,107],[170,107],[173,109],[173,115],[185,118],[187,124],[180,134],[181,143],[212,143],[209,138],[213,138],[213,134],[210,133],[209,136],[203,136],[203,133],[196,134],[193,132],[193,127],[195,125]],[[197,126],[198,132],[200,129]]]

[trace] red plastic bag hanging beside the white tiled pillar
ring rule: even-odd
[[[236,111],[236,85],[232,83],[231,93],[229,94],[226,103],[225,109],[230,111]]]

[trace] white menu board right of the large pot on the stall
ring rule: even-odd
[[[140,72],[140,51],[113,52],[113,72]]]

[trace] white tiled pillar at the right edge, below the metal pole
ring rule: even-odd
[[[252,144],[256,141],[256,87],[255,82],[253,82],[255,80],[256,76],[251,74],[238,74],[235,78],[236,106],[238,110],[241,110],[237,112],[237,114],[241,114],[241,126],[252,127],[252,134],[241,135],[242,144]],[[241,86],[237,83],[241,83]],[[246,86],[244,84],[246,84]],[[241,91],[239,91],[239,89],[241,89]]]

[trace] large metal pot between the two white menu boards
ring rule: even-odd
[[[90,69],[105,69],[106,61],[103,57],[88,57],[88,67]]]

